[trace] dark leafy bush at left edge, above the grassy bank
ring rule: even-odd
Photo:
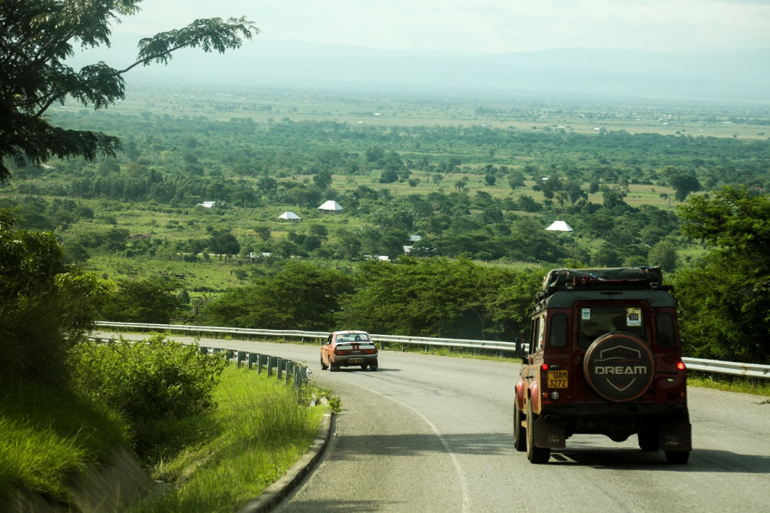
[[[92,327],[106,288],[65,266],[52,234],[14,223],[0,211],[0,378],[60,384],[67,349]]]

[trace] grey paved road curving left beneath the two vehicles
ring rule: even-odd
[[[202,343],[306,361],[342,398],[330,445],[282,513],[770,511],[762,398],[691,388],[688,465],[598,435],[531,465],[512,445],[516,364],[385,351],[378,371],[332,373],[310,345]]]

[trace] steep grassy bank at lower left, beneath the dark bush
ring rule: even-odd
[[[34,383],[2,383],[0,504],[24,488],[69,499],[67,479],[126,444],[119,418],[72,393]]]

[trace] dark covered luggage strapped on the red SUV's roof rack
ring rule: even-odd
[[[596,269],[553,269],[543,281],[547,295],[574,288],[664,288],[659,266],[613,267]],[[665,287],[664,289],[668,289]]]

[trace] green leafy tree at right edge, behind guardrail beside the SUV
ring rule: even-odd
[[[685,343],[706,358],[770,363],[770,197],[727,187],[678,211],[682,231],[711,247],[675,274]]]

